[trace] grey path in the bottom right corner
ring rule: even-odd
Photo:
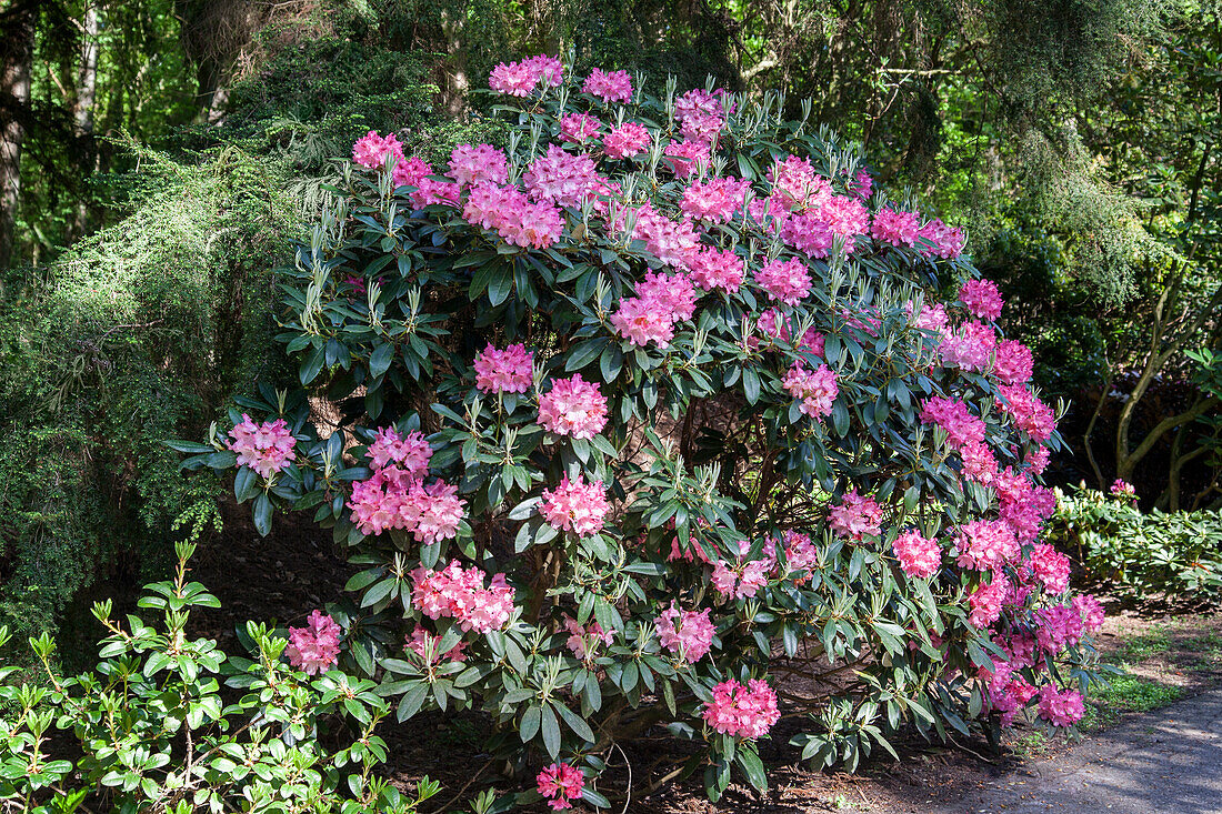
[[[1136,715],[930,814],[1222,813],[1222,691]]]

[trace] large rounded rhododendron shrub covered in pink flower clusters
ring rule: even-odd
[[[303,390],[193,458],[348,548],[341,664],[401,719],[489,715],[557,808],[645,733],[716,798],[782,715],[849,766],[906,724],[1070,725],[1097,606],[1040,544],[1055,417],[963,232],[772,98],[491,87],[505,149],[358,147],[281,271]]]

